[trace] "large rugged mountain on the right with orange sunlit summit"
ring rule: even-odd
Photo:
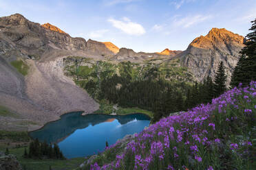
[[[220,62],[224,62],[229,84],[239,51],[244,47],[243,42],[243,36],[224,28],[213,28],[206,36],[195,38],[175,59],[179,58],[180,64],[188,67],[198,81],[204,80],[208,75],[214,77]]]

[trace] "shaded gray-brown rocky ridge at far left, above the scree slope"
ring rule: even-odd
[[[21,14],[0,18],[1,32],[16,45],[45,50],[46,45],[57,49],[78,50],[86,48],[83,38],[72,38],[68,34],[54,32],[25,19]]]

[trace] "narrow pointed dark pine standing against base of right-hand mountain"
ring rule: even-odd
[[[214,93],[215,97],[221,95],[226,90],[226,74],[223,62],[220,62],[220,65],[217,69],[214,80]]]

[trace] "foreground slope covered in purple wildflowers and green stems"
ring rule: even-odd
[[[161,119],[127,145],[96,157],[93,169],[253,169],[256,82],[180,115]],[[127,147],[127,149],[125,149]],[[89,169],[90,165],[83,169]],[[137,169],[136,168],[136,169]]]

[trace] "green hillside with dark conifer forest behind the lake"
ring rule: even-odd
[[[206,88],[206,83],[204,86],[198,84],[196,88],[189,85],[187,82],[191,81],[191,75],[186,68],[152,62],[83,62],[88,66],[73,62],[74,65],[66,66],[66,71],[73,75],[76,84],[85,88],[100,103],[97,113],[111,114],[114,104],[118,104],[118,114],[141,112],[155,117],[157,121],[171,112],[211,101],[211,97],[207,98],[206,95],[212,93],[212,88]],[[189,90],[192,96],[186,97]]]

